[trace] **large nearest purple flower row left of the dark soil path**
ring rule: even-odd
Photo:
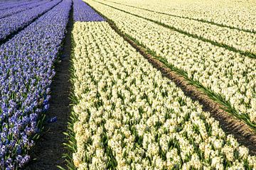
[[[65,36],[71,0],[0,46],[0,169],[17,169],[30,157],[38,115],[49,107],[53,62]]]

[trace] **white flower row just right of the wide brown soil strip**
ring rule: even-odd
[[[92,0],[89,4],[124,33],[188,73],[188,77],[221,94],[256,124],[256,60],[188,37]]]

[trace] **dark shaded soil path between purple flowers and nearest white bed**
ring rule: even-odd
[[[54,170],[57,166],[64,166],[63,154],[66,149],[63,146],[67,131],[68,118],[70,113],[70,51],[71,31],[73,28],[73,9],[70,11],[70,20],[63,40],[63,51],[60,54],[59,63],[55,65],[55,78],[51,85],[50,108],[46,113],[46,120],[57,117],[55,123],[46,123],[41,138],[31,150],[31,161],[25,170]]]

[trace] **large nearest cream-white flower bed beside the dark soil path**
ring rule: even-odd
[[[78,169],[256,169],[232,135],[108,23],[75,23]]]

